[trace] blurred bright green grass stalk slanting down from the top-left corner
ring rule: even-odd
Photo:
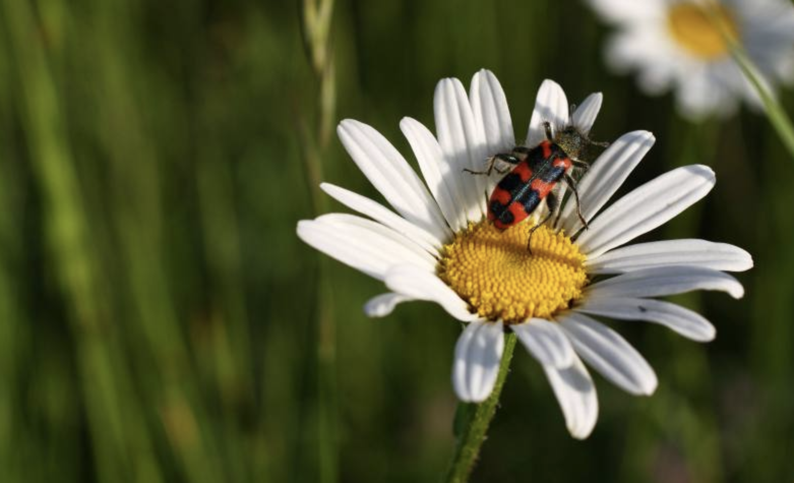
[[[91,224],[48,65],[44,33],[29,2],[2,2],[0,9],[19,75],[18,106],[25,137],[44,196],[44,234],[77,345],[98,478],[161,481],[145,425],[126,397],[129,372],[119,359],[115,330],[108,323],[106,294],[91,252]]]

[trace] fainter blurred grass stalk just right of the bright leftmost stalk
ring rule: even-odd
[[[152,88],[145,60],[136,50],[139,11],[134,2],[93,3],[96,49],[95,82],[105,99],[97,119],[110,158],[110,203],[118,234],[121,266],[129,284],[131,336],[141,330],[151,360],[140,357],[137,373],[143,376],[146,408],[159,418],[189,481],[224,481],[217,427],[202,400],[198,377],[191,364],[189,343],[168,283],[164,253],[167,222],[161,195],[164,163],[153,148],[154,139],[141,111],[141,86]],[[151,98],[159,91],[152,89]],[[123,113],[123,115],[120,115]]]

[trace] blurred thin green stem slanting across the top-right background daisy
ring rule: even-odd
[[[761,102],[764,104],[766,117],[769,118],[769,122],[777,132],[778,137],[781,138],[788,153],[791,154],[792,160],[794,160],[794,126],[792,126],[792,121],[788,118],[788,114],[786,114],[783,106],[777,101],[773,93],[766,88],[755,64],[750,60],[750,57],[747,56],[742,45],[736,41],[728,26],[725,25],[723,17],[720,17],[716,10],[709,6],[703,6],[703,12],[705,12],[711,22],[719,29],[719,33],[722,34],[723,40],[728,45],[728,48],[730,48],[730,55],[733,56],[734,61],[742,70],[742,74],[750,81],[750,84],[752,84],[758,96],[761,98]]]

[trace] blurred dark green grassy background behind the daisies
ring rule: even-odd
[[[756,267],[742,300],[678,299],[715,323],[710,344],[613,324],[660,385],[595,376],[584,442],[518,350],[473,481],[794,481],[794,160],[764,117],[684,122],[605,71],[607,30],[578,2],[339,0],[335,86],[301,11],[0,0],[0,481],[438,481],[459,324],[427,303],[367,319],[384,288],[295,223],[341,210],[319,178],[380,199],[318,139],[322,112],[414,163],[399,119],[433,126],[437,80],[483,67],[519,138],[545,78],[571,102],[603,91],[595,139],[652,131],[624,191],[711,165],[715,190],[647,238],[733,243]]]

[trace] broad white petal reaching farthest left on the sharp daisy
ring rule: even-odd
[[[433,257],[407,238],[379,223],[350,214],[326,214],[314,220],[302,220],[298,222],[298,237],[322,253],[378,280],[384,280],[392,265],[414,264],[427,272],[435,269]]]

